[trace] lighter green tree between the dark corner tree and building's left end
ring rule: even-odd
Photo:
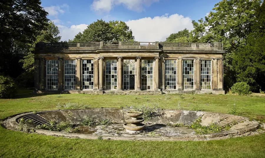
[[[35,49],[35,44],[38,42],[59,42],[61,40],[59,33],[59,28],[53,22],[49,21],[47,26],[36,37],[36,41],[28,44],[27,55],[23,57],[24,59],[19,60],[19,62],[23,63],[22,68],[24,69],[24,72],[17,78],[20,87],[34,86],[34,54],[30,51]]]

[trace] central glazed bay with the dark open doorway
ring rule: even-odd
[[[135,60],[123,60],[123,89],[132,90],[135,86]]]

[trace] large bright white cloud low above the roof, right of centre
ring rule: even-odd
[[[138,20],[129,20],[125,23],[132,29],[135,41],[160,42],[164,41],[170,34],[177,33],[185,28],[189,31],[193,30],[191,21],[191,18],[182,15],[172,14],[168,17],[168,14],[165,14],[153,19],[145,17]]]

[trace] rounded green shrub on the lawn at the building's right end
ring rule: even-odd
[[[246,82],[237,82],[231,87],[231,92],[239,95],[251,94],[250,86]]]

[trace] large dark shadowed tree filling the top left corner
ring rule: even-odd
[[[18,61],[27,50],[24,44],[35,41],[48,22],[47,15],[40,0],[0,1],[0,72],[19,75]]]

